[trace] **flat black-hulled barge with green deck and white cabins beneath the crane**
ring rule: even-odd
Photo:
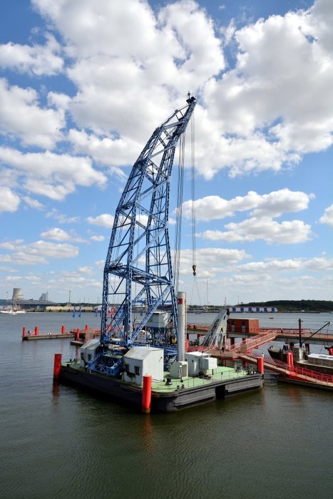
[[[163,349],[136,346],[123,356],[118,375],[92,371],[86,359],[93,360],[99,340],[88,340],[81,347],[81,359],[61,364],[60,379],[122,401],[140,409],[143,401],[143,372],[153,372],[151,411],[171,412],[262,388],[262,374],[235,363],[217,366],[217,359],[203,352],[185,354],[185,361],[174,361],[163,369]],[[190,372],[189,372],[190,368]]]

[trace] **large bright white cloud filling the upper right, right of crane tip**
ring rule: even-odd
[[[332,3],[318,0],[309,11],[270,16],[235,31],[235,68],[220,80],[210,78],[203,93],[210,120],[227,137],[220,165],[213,139],[206,177],[225,166],[232,175],[280,170],[304,153],[329,148],[332,18]]]

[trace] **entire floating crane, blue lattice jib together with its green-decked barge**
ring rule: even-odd
[[[225,343],[227,309],[218,314],[200,351],[185,346],[186,297],[177,291],[176,277],[181,210],[172,266],[168,203],[175,146],[195,104],[189,94],[186,105],[155,128],[130,172],[104,267],[101,337],[86,341],[78,359],[63,364],[55,359],[61,381],[142,406],[144,412],[178,411],[262,387],[262,374],[252,367],[219,366],[209,354],[212,346]],[[185,150],[182,140],[180,147]]]

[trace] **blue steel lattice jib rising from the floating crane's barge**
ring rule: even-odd
[[[119,336],[130,348],[153,312],[168,309],[177,334],[168,211],[175,148],[196,99],[175,110],[151,135],[118,204],[103,274],[101,343]],[[133,321],[133,311],[140,319]]]

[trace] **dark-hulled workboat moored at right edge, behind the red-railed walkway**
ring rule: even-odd
[[[270,346],[268,353],[272,359],[285,362],[287,364],[288,352],[292,352],[292,359],[294,365],[304,367],[310,371],[315,371],[322,374],[333,375],[333,355],[330,354],[309,354],[303,347],[283,345],[282,348],[278,346]],[[329,349],[332,352],[333,348]]]

